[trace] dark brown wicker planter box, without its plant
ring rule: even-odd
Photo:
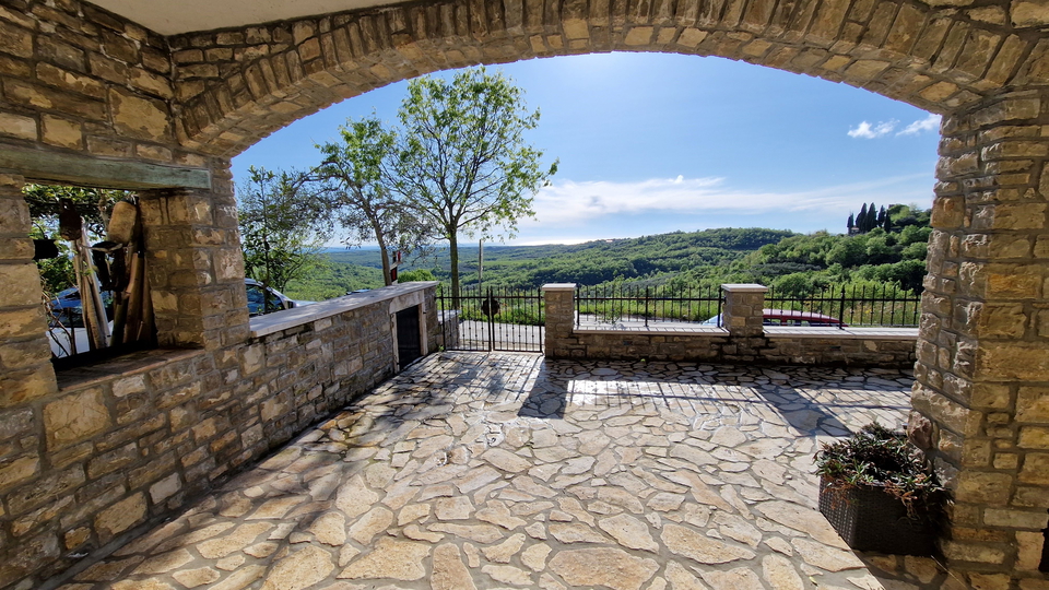
[[[820,480],[820,511],[857,551],[896,555],[932,555],[936,520],[932,515],[907,516],[901,502],[872,486],[828,486]]]

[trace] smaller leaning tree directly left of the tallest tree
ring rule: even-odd
[[[419,216],[410,214],[399,193],[390,189],[390,163],[397,134],[375,116],[346,121],[339,128],[341,142],[317,148],[325,161],[314,169],[351,244],[375,240],[382,257],[382,279],[393,284],[390,249],[417,250],[431,234]]]

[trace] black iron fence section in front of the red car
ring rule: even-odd
[[[769,290],[765,294],[765,307],[769,310],[798,312],[794,318],[790,314],[766,311],[766,323],[835,326],[842,329],[847,326],[909,328],[918,326],[921,296],[888,285],[829,286],[802,297]],[[770,320],[770,317],[777,319]]]

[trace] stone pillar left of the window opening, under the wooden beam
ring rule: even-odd
[[[0,170],[0,418],[4,409],[58,390],[23,184],[21,176]],[[0,465],[0,487],[5,472]]]

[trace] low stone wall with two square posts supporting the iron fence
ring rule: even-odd
[[[763,326],[762,285],[722,285],[724,328],[600,329],[575,326],[575,285],[544,285],[546,356],[708,363],[900,367],[915,365],[909,329],[837,330]]]

